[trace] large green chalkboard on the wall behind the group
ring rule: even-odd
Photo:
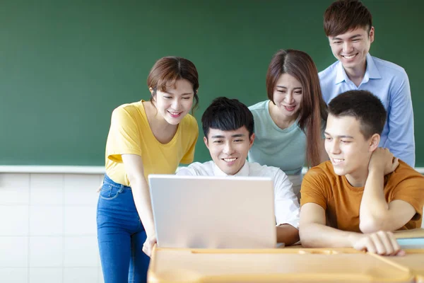
[[[322,29],[331,0],[65,1],[0,5],[0,164],[101,166],[112,110],[148,99],[148,71],[167,55],[199,70],[200,107],[217,96],[266,99],[269,60],[281,48],[334,62]],[[424,2],[364,1],[371,53],[411,82],[417,166],[424,166]],[[209,159],[200,135],[196,161]]]

